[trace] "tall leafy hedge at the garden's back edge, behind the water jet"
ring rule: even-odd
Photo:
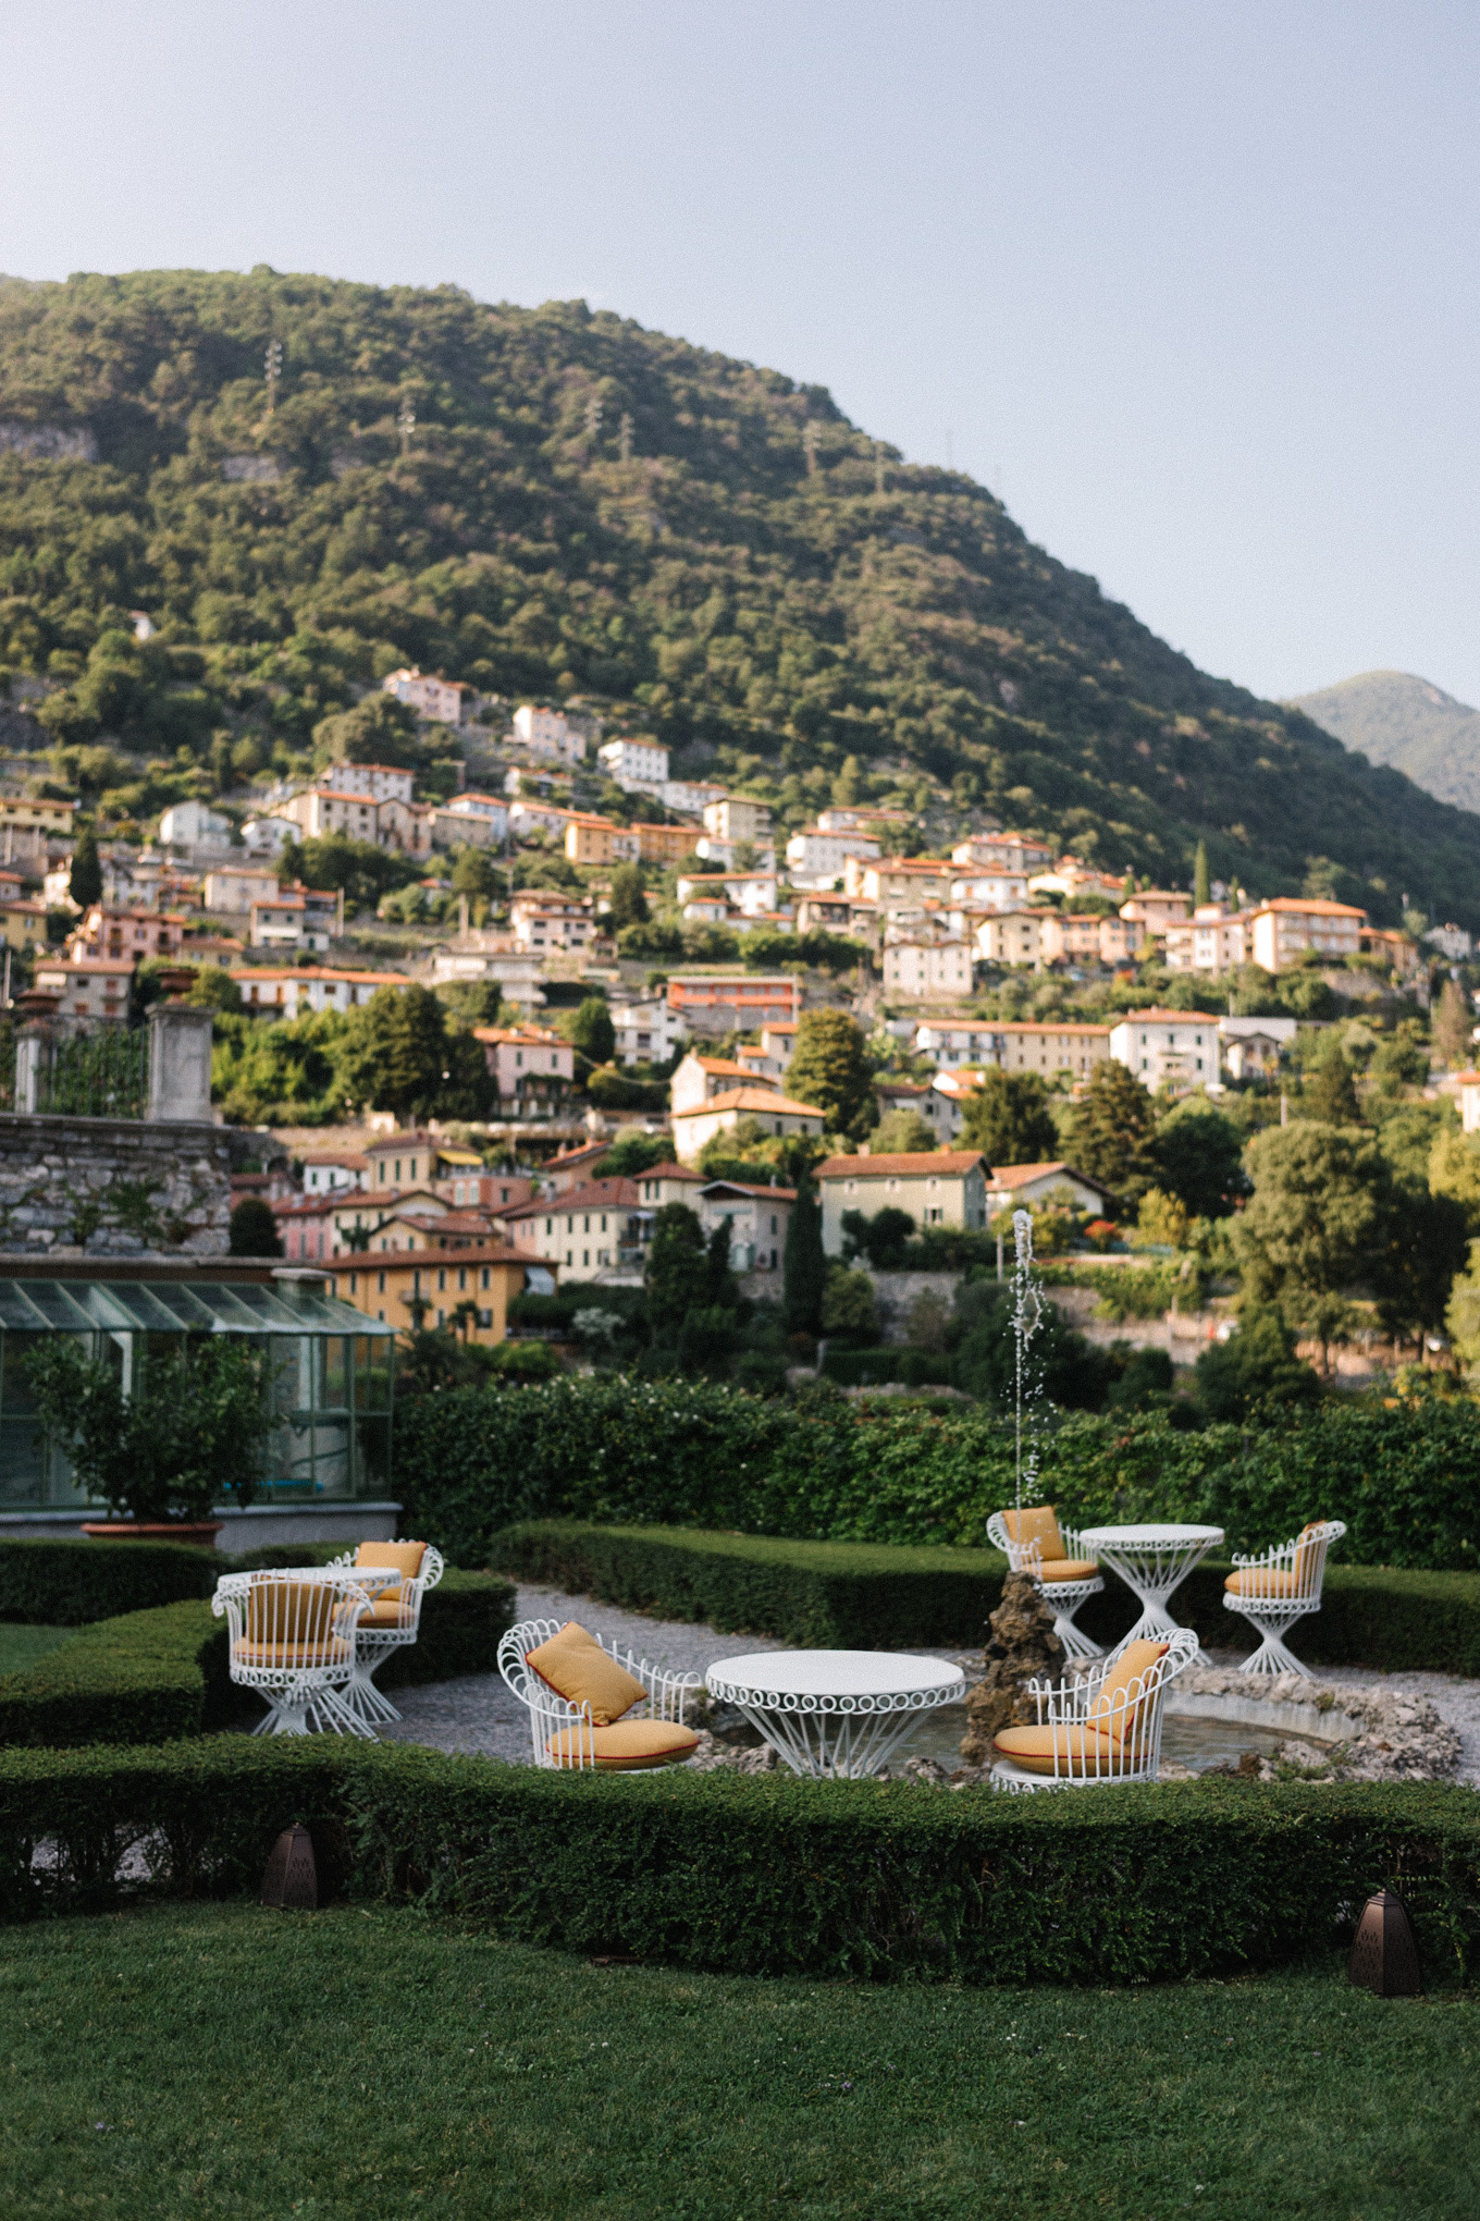
[[[519,1519],[734,1528],[808,1541],[979,1548],[1012,1501],[1012,1428],[959,1415],[799,1408],[621,1375],[459,1388],[397,1413],[406,1517],[457,1564]],[[1480,1406],[1322,1404],[1278,1426],[1180,1433],[1160,1413],[1072,1413],[1043,1441],[1065,1521],[1196,1519],[1263,1548],[1349,1526],[1369,1566],[1480,1568]]]

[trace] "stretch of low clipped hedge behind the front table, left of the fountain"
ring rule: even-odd
[[[981,1644],[1007,1568],[996,1550],[892,1550],[557,1519],[506,1528],[490,1557],[526,1581],[819,1650]]]

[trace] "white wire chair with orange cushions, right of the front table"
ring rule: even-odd
[[[1160,1655],[1158,1655],[1160,1652]],[[1192,1628],[1158,1641],[1127,1644],[1118,1657],[1063,1681],[1030,1681],[1038,1710],[1032,1728],[1001,1728],[992,1766],[996,1790],[1083,1788],[1098,1781],[1156,1781],[1160,1708],[1172,1681],[1198,1655]]]

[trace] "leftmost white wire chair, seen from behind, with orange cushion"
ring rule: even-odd
[[[371,1599],[348,1575],[226,1572],[211,1610],[226,1617],[231,1679],[253,1688],[266,1715],[253,1735],[359,1735],[375,1730],[346,1701],[355,1628]]]

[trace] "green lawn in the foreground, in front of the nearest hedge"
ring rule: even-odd
[[[728,1981],[410,1912],[0,1932],[7,2221],[1425,2221],[1480,2212],[1480,1999]]]

